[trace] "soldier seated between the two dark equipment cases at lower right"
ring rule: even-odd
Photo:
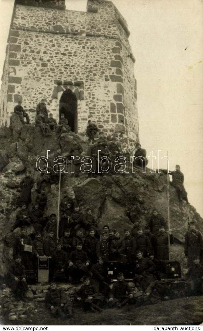
[[[137,252],[137,261],[135,269],[135,281],[138,281],[141,288],[145,291],[149,284],[154,281],[155,265],[152,260],[143,258],[142,252]]]

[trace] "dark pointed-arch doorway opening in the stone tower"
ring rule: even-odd
[[[65,90],[59,101],[59,117],[64,114],[72,132],[77,132],[77,97],[69,88]]]

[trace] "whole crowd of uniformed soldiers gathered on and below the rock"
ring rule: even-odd
[[[22,122],[25,117],[29,123],[28,115],[20,102],[14,112],[20,116]],[[43,100],[37,105],[36,113],[35,124],[41,128],[43,135],[49,135],[51,131],[58,132],[59,135],[62,131],[70,131],[68,120],[63,114],[58,124],[51,114],[48,116]],[[97,133],[98,138],[95,140]],[[98,150],[101,155],[112,158],[112,162],[121,154],[116,138],[112,137],[108,142],[94,122],[88,122],[86,134],[91,142],[88,152],[100,166]],[[138,158],[136,165],[147,165],[146,150],[142,149],[139,143],[135,147],[135,157]],[[60,152],[61,150],[57,151],[54,157],[60,155]],[[70,154],[78,156],[81,153],[82,147],[73,140]],[[76,176],[79,166],[80,163],[75,164]],[[177,165],[176,171],[171,174],[178,199],[188,203],[180,167]],[[34,204],[31,202],[34,181],[29,171],[20,184],[21,209],[16,214],[11,231],[20,228],[21,233],[13,245],[14,261],[8,275],[16,299],[26,300],[27,275],[33,271],[37,274],[38,259],[43,256],[49,259],[51,281],[51,288],[46,295],[46,306],[54,316],[72,316],[74,302],[82,305],[84,310],[100,311],[103,307],[122,307],[126,304],[139,306],[169,299],[170,286],[163,282],[166,274],[159,262],[169,261],[169,244],[173,244],[174,237],[167,232],[164,217],[154,209],[144,228],[135,220],[131,229],[120,231],[110,229],[108,225],[100,229],[90,208],[84,213],[76,202],[64,196],[60,203],[58,223],[55,213],[50,216],[44,214],[47,204],[44,185],[49,183],[50,178],[53,180],[53,176],[43,174],[43,179],[37,183]],[[30,226],[33,226],[35,233],[27,235],[27,227]],[[194,222],[189,223],[189,230],[185,234],[185,256],[189,267],[186,278],[190,280],[191,294],[202,294],[203,242]],[[117,282],[113,286],[110,284],[106,272],[106,266],[110,262],[124,265],[126,271],[131,270],[131,286],[125,281],[125,272],[122,271],[116,276]],[[66,282],[83,282],[76,293],[70,291],[70,300],[56,286],[55,280],[59,274]]]

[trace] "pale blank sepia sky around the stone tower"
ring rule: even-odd
[[[5,58],[13,0],[0,0],[0,71]],[[136,59],[140,143],[153,151],[154,169],[175,165],[184,174],[189,202],[203,217],[203,2],[113,0],[127,21]],[[67,0],[86,11],[86,0]]]

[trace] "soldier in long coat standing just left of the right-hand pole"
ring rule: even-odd
[[[169,260],[169,236],[165,232],[164,226],[160,226],[157,235],[157,259]]]

